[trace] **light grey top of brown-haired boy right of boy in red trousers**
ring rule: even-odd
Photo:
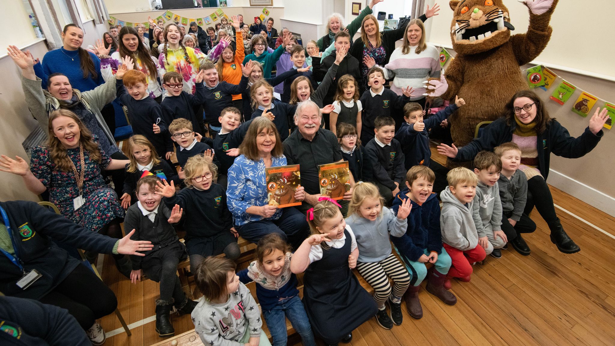
[[[488,232],[502,229],[502,203],[499,199],[498,182],[496,185],[488,186],[478,181],[472,217],[478,238],[486,236]]]

